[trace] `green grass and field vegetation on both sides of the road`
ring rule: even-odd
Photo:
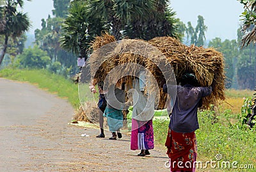
[[[3,69],[0,77],[30,82],[41,89],[49,90],[58,96],[68,99],[74,108],[79,107],[77,85],[63,76],[52,75],[45,70]],[[207,169],[198,171],[255,171],[256,168],[256,133],[242,125],[241,107],[244,97],[252,97],[250,90],[227,90],[226,103],[222,103],[214,111],[198,112],[200,129],[196,131],[198,142],[198,161],[215,161],[215,168],[208,164]],[[157,145],[162,145],[167,134],[168,120],[154,120],[154,137]],[[219,161],[217,158],[221,159]],[[221,168],[220,164],[229,162],[230,169]],[[237,169],[234,169],[236,166]]]

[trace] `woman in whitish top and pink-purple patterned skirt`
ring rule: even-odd
[[[154,148],[154,117],[155,96],[145,93],[145,73],[140,72],[140,78],[133,81],[132,89],[132,132],[131,150],[141,150],[138,156],[150,155],[148,150]]]

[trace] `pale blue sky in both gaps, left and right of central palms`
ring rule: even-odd
[[[196,27],[198,15],[204,17],[208,28],[205,32],[206,39],[237,38],[237,29],[241,24],[239,16],[243,12],[243,5],[237,0],[171,0],[170,7],[186,25],[191,22]],[[52,15],[52,9],[52,0],[25,1],[23,11],[28,13],[33,25],[29,34],[34,34],[35,29],[41,29],[41,19]]]

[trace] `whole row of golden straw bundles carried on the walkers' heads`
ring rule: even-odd
[[[147,68],[160,85],[164,75],[158,68],[158,64],[164,62],[172,65],[177,83],[180,82],[182,73],[193,72],[198,78],[200,86],[212,85],[214,87],[211,96],[204,98],[204,108],[209,107],[210,104],[218,105],[220,101],[225,99],[223,55],[214,48],[195,47],[194,45],[188,47],[171,37],[159,37],[150,41],[126,39],[117,43],[109,34],[97,37],[92,47],[94,52],[89,63],[95,82],[104,80],[116,66],[132,62]],[[136,48],[129,50],[133,47]],[[159,55],[159,52],[161,55]],[[131,66],[124,67],[120,71],[115,71],[115,76],[118,77],[120,73],[124,74],[128,71],[131,73],[132,70],[136,73],[135,68],[131,68]],[[130,85],[132,79],[132,76],[123,78]],[[169,79],[166,78],[166,80]],[[111,80],[115,80],[115,78],[111,78]],[[160,99],[157,109],[163,109],[165,108],[166,95],[161,91],[159,94]]]

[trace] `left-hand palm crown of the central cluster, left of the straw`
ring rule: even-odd
[[[68,52],[79,55],[86,59],[90,42],[104,29],[109,30],[102,24],[99,16],[90,16],[88,1],[72,1],[69,13],[61,27],[61,47]]]

